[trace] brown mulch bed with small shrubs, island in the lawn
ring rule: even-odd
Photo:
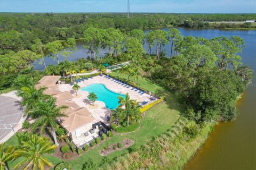
[[[100,150],[100,155],[101,156],[107,156],[110,153],[114,152],[114,151],[118,151],[118,150],[123,150],[126,148],[129,148],[130,146],[132,146],[134,144],[134,141],[131,139],[125,139],[122,141],[123,147],[122,148],[118,148],[118,143],[115,143],[114,145],[110,145],[107,149],[101,149]]]

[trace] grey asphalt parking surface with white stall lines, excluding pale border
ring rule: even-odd
[[[20,101],[7,96],[0,96],[0,141],[18,124],[22,117]]]

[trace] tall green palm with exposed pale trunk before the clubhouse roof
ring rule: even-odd
[[[62,111],[66,108],[67,106],[60,106],[56,107],[55,105],[56,100],[55,98],[50,98],[47,101],[39,101],[33,111],[31,111],[33,115],[38,117],[38,120],[32,125],[32,129],[36,130],[39,129],[40,132],[46,128],[46,126],[51,127],[52,131],[52,137],[54,139],[55,145],[59,145],[55,133],[55,127],[58,125],[56,120],[57,118],[60,117],[67,117],[67,115],[63,114]]]

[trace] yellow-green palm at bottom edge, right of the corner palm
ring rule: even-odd
[[[23,169],[44,169],[44,166],[52,167],[52,164],[43,157],[43,154],[49,153],[57,148],[56,145],[43,137],[39,137],[36,134],[29,133],[26,140],[21,139],[18,149],[15,150],[15,154],[19,157],[23,157],[14,168],[17,168],[23,164]]]

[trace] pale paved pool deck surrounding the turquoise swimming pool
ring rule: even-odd
[[[128,92],[129,96],[131,97],[131,99],[136,99],[138,102],[142,102],[142,101],[150,101],[150,95],[148,94],[143,94],[141,95],[138,91],[132,90],[132,87],[130,88],[126,88],[124,87],[124,85],[122,86],[121,84],[118,84],[116,82],[114,82],[113,79],[107,79],[105,78],[105,75],[101,76],[96,76],[93,77],[92,79],[88,79],[88,80],[84,80],[82,82],[79,82],[78,85],[83,88],[85,86],[88,86],[90,84],[94,84],[94,83],[101,83],[104,84],[109,90],[112,90],[114,92],[117,92],[119,94],[126,94]],[[59,84],[59,90],[64,92],[64,91],[70,91],[71,94],[73,94],[74,98],[72,99],[73,101],[75,101],[75,103],[77,105],[79,105],[80,107],[85,107],[86,109],[88,109],[91,113],[92,116],[95,118],[95,121],[102,121],[104,123],[106,123],[107,121],[107,116],[110,115],[111,111],[110,109],[108,109],[105,105],[105,103],[103,103],[102,101],[95,101],[95,104],[98,104],[99,107],[98,108],[90,108],[90,101],[87,98],[87,96],[89,95],[89,92],[87,91],[83,91],[83,90],[78,90],[77,92],[77,97],[76,94],[74,92],[74,90],[72,89],[73,86],[70,86],[69,84]]]

